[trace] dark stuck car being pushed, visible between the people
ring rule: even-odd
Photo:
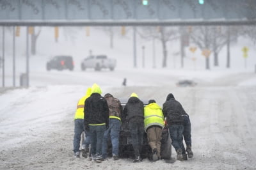
[[[144,106],[146,106],[148,101],[142,100]],[[127,100],[120,98],[120,102],[124,108]],[[166,127],[166,123],[164,124],[164,128],[162,130],[162,140],[161,140],[161,158],[164,160],[171,160],[172,156],[172,143],[170,139],[170,135],[168,132],[168,128]],[[109,140],[109,157],[111,157],[111,141]],[[132,147],[132,139],[131,133],[129,132],[129,125],[127,121],[123,121],[122,128],[120,130],[120,137],[119,137],[119,157],[120,158],[134,158],[134,150]],[[152,160],[152,151],[148,144],[147,133],[144,133],[143,137],[143,146],[142,146],[142,153],[141,158],[148,158]]]

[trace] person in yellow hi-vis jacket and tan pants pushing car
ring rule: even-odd
[[[144,127],[148,137],[148,144],[152,149],[152,160],[161,158],[162,128],[164,127],[164,115],[161,107],[155,100],[149,100],[144,107]]]

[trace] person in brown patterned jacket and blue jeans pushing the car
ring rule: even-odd
[[[118,160],[119,152],[119,133],[121,129],[121,115],[123,112],[122,105],[118,98],[107,93],[104,98],[108,102],[109,108],[109,128],[104,132],[103,144],[102,144],[102,156],[105,160],[108,157],[108,139],[110,135],[112,143],[112,157],[114,160]]]

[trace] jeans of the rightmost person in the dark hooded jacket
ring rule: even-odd
[[[184,127],[183,125],[170,125],[168,126],[169,132],[170,132],[170,137],[172,139],[172,146],[175,148],[175,150],[182,150],[182,153],[185,153],[184,150],[184,145],[183,145],[183,130]]]

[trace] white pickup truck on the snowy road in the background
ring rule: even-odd
[[[106,55],[88,56],[81,63],[81,70],[86,68],[94,68],[95,71],[100,71],[102,68],[109,68],[113,71],[116,66],[116,59],[108,58]]]

